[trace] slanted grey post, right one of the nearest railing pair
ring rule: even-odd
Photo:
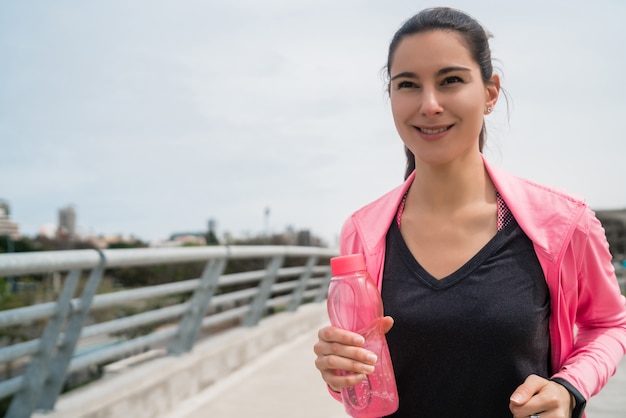
[[[72,312],[70,315],[69,322],[65,329],[65,337],[57,351],[54,361],[50,365],[50,376],[44,383],[43,392],[37,405],[38,409],[44,411],[54,409],[54,404],[63,389],[63,383],[67,377],[67,370],[72,361],[74,351],[76,350],[80,332],[104,273],[104,266],[106,264],[104,253],[100,250],[96,251],[98,251],[100,255],[100,262],[91,270],[89,279],[85,284],[80,297],[80,310],[78,310],[78,312]]]

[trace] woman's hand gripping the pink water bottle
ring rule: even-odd
[[[393,319],[387,316],[381,321],[383,331],[387,333],[393,326]],[[361,335],[328,326],[320,329],[317,336],[318,342],[313,348],[317,354],[315,367],[335,392],[356,385],[374,372],[378,359],[374,353],[362,348],[365,339]]]

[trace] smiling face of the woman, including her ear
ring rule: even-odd
[[[396,129],[414,157],[410,162],[443,162],[482,149],[482,115],[495,106],[500,90],[497,75],[483,81],[481,74],[490,72],[481,71],[455,33],[417,33],[395,45],[389,94]]]

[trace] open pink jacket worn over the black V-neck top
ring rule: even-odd
[[[581,200],[514,177],[485,161],[487,172],[532,240],[551,298],[553,378],[589,399],[615,373],[626,353],[626,305],[604,229]],[[355,212],[341,234],[341,253],[363,253],[382,286],[385,235],[413,175]],[[575,332],[577,327],[577,332]]]

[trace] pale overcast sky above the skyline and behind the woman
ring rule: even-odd
[[[311,229],[402,181],[381,69],[421,8],[494,35],[509,96],[487,157],[625,208],[626,2],[210,0],[0,3],[0,198],[25,235],[74,205],[145,240]]]

